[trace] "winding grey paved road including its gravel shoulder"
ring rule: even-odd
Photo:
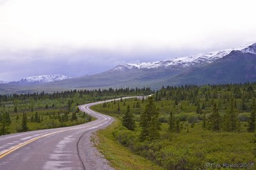
[[[112,169],[90,140],[92,132],[113,122],[90,110],[100,103],[79,106],[97,118],[86,124],[0,136],[0,169]]]

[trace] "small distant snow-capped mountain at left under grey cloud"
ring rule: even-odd
[[[50,74],[50,75],[42,75],[42,76],[31,76],[27,78],[22,78],[19,81],[11,81],[10,84],[42,84],[42,83],[49,83],[52,81],[60,81],[65,80],[70,77],[63,76],[60,74]]]

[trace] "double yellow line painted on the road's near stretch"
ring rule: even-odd
[[[64,130],[64,131],[67,131],[67,130]],[[44,135],[42,135],[42,136],[38,136],[38,137],[36,137],[36,138],[29,139],[28,141],[25,141],[24,143],[20,143],[19,145],[13,146],[12,148],[6,150],[5,152],[0,153],[0,159],[2,159],[3,157],[5,157],[6,155],[12,153],[13,151],[15,151],[15,150],[21,148],[22,146],[28,145],[29,143],[31,143],[31,142],[33,142],[33,141],[36,141],[37,139],[44,138],[44,137],[46,137],[46,136],[50,136],[50,135],[52,135],[52,134],[57,134],[57,133],[64,132],[64,131],[52,132],[52,133],[49,133],[49,134],[44,134]]]

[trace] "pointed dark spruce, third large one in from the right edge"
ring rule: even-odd
[[[216,103],[214,103],[212,114],[209,116],[209,129],[211,131],[220,131],[221,129],[221,117]]]

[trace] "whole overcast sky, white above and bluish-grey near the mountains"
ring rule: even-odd
[[[82,76],[256,41],[255,0],[0,0],[0,80]]]

